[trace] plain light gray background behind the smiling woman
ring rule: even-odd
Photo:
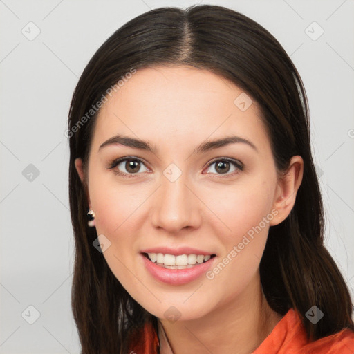
[[[0,353],[79,353],[64,136],[71,95],[117,28],[150,8],[193,3],[0,0]],[[310,102],[326,244],[353,295],[354,1],[201,3],[258,21],[297,66]]]

